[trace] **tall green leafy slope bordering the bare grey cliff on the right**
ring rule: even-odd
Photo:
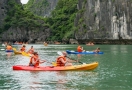
[[[46,19],[52,28],[50,40],[74,38],[74,19],[77,11],[77,0],[59,0],[51,17]]]

